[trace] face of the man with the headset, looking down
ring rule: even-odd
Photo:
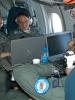
[[[21,15],[17,18],[17,24],[22,31],[29,29],[29,19],[25,15]]]

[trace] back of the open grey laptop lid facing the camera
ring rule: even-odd
[[[43,36],[11,40],[12,65],[32,63],[32,59],[41,57],[43,47],[45,47]]]

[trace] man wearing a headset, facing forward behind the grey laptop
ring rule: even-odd
[[[9,35],[11,39],[24,38],[24,37],[32,37],[37,36],[37,33],[33,33],[30,30],[30,21],[29,21],[29,12],[25,10],[25,12],[19,12],[14,19],[17,28],[12,31]]]

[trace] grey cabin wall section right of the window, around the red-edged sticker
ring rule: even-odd
[[[75,8],[68,9],[68,10],[64,10],[64,7],[61,7],[61,8],[62,8],[64,20],[65,20],[66,30],[73,32],[74,37],[75,37],[75,17],[72,17],[73,12],[75,12]],[[70,13],[71,10],[73,12]]]

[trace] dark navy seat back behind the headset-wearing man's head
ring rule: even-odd
[[[25,10],[26,9],[22,8],[22,7],[12,7],[9,10],[9,14],[8,14],[8,18],[7,18],[7,32],[8,32],[8,34],[18,27],[16,22],[15,22],[15,18],[19,13],[25,12]]]

